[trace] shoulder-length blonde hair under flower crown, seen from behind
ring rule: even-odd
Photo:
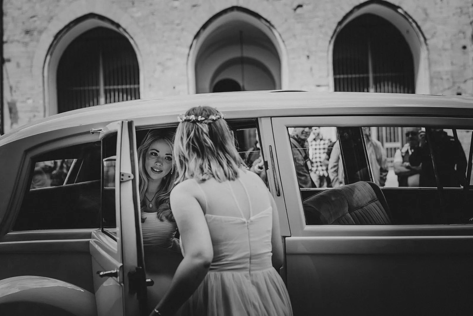
[[[209,118],[219,111],[210,106],[196,106],[185,115]],[[211,177],[219,182],[238,178],[238,169],[245,163],[235,148],[227,122],[218,119],[209,123],[181,122],[174,140],[177,181],[193,178],[205,181]]]

